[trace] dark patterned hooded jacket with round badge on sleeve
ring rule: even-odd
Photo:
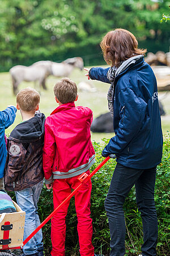
[[[45,115],[36,114],[35,117],[17,125],[8,137],[5,166],[7,191],[32,187],[43,179],[44,123]]]

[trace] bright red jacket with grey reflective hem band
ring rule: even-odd
[[[91,143],[92,110],[62,104],[45,120],[43,169],[45,183],[86,172],[95,163]]]

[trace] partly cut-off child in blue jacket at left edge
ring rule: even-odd
[[[7,156],[7,148],[5,143],[5,129],[14,123],[16,117],[15,106],[7,106],[3,111],[0,111],[0,189],[4,188],[3,174]]]

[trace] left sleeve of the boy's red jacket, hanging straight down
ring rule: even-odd
[[[43,147],[43,170],[45,176],[45,184],[50,184],[53,182],[53,162],[56,152],[56,141],[50,127],[45,121],[45,135],[44,135],[44,147]]]

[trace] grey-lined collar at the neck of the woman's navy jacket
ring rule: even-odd
[[[143,63],[144,58],[143,55],[138,55],[125,60],[122,65],[117,69],[115,76],[120,75],[120,73],[124,72],[125,69],[133,67],[135,64]]]

